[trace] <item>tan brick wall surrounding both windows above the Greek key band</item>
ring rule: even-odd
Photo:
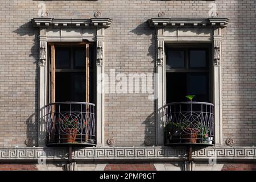
[[[255,144],[256,46],[255,2],[214,1],[218,15],[228,17],[222,41],[223,135],[236,145]],[[38,1],[1,1],[0,11],[0,147],[36,141],[38,102]],[[164,11],[170,17],[208,17],[212,1],[46,1],[54,18],[90,18],[96,11],[113,18],[106,29],[105,72],[154,72],[154,28],[146,23]],[[117,146],[154,143],[154,101],[148,94],[106,94],[105,137]]]

